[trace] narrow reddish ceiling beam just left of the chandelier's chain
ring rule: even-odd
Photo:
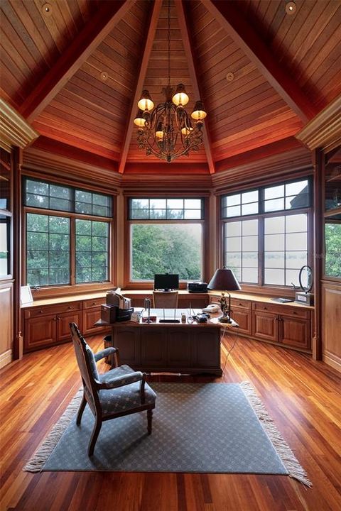
[[[158,26],[158,18],[160,16],[162,6],[162,0],[155,0],[152,4],[151,17],[149,22],[148,32],[146,33],[146,40],[144,46],[141,48],[142,58],[141,65],[136,80],[135,94],[131,101],[131,109],[128,121],[126,123],[126,131],[124,136],[124,145],[121,150],[121,160],[119,162],[119,173],[123,174],[124,167],[126,165],[126,158],[128,156],[129,145],[131,142],[131,135],[133,133],[134,119],[136,115],[137,102],[141,97],[142,87],[144,85],[144,79],[146,77],[149,57],[151,55],[151,48],[153,47],[153,41],[156,33],[156,27]]]

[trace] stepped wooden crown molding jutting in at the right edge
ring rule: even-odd
[[[341,95],[296,133],[296,138],[310,150],[322,148],[328,153],[337,148],[341,144]]]

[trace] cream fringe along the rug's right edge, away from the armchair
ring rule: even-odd
[[[313,484],[308,479],[308,474],[305,472],[304,468],[293,454],[293,451],[291,451],[290,447],[283,439],[283,436],[281,435],[281,432],[278,431],[273,419],[269,417],[269,413],[258,395],[256,395],[254,387],[247,381],[244,381],[239,385],[258,417],[259,422],[261,422],[264,431],[269,436],[269,439],[278,452],[278,456],[281,458],[283,465],[286,467],[288,475],[297,479],[300,483],[303,483],[303,485],[308,486],[308,488],[311,488]]]

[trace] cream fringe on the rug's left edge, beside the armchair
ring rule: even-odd
[[[28,463],[26,463],[26,465],[23,467],[23,471],[41,472],[50,454],[52,453],[53,449],[55,449],[55,446],[58,444],[58,441],[65,432],[65,429],[70,424],[72,417],[77,412],[80,406],[82,395],[83,389],[80,388],[77,390],[77,394],[70,401],[70,404],[67,406],[62,417],[58,419],[58,422],[55,423],[48,436],[46,436],[40,446],[38,446],[36,452],[33,454],[33,456],[31,456]]]

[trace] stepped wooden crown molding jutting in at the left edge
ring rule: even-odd
[[[38,131],[23,119],[4,99],[0,98],[0,147],[9,153],[13,147],[26,148],[38,138]]]

